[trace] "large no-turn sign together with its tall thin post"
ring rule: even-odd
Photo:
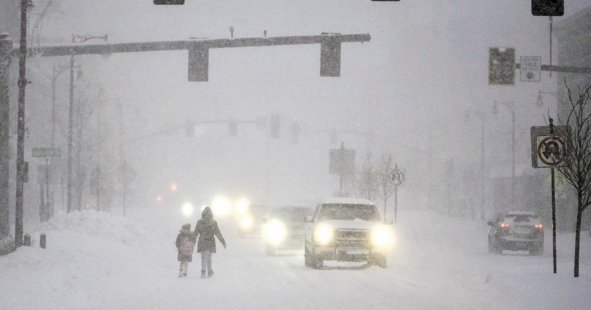
[[[548,118],[550,126],[532,126],[531,128],[531,165],[534,168],[550,168],[552,195],[552,257],[556,273],[556,190],[554,187],[554,167],[563,167],[568,154],[567,126],[554,126],[554,120]]]

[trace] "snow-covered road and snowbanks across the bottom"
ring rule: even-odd
[[[215,276],[177,278],[174,238],[184,221],[154,210],[122,218],[83,211],[60,215],[37,231],[48,247],[21,247],[0,257],[5,309],[591,309],[591,242],[582,237],[581,276],[573,278],[572,234],[558,237],[552,273],[551,234],[543,256],[488,254],[487,227],[400,214],[388,269],[326,262],[304,267],[303,251],[266,256],[261,239],[236,238],[220,220],[228,249],[213,256]],[[141,215],[140,215],[141,214]],[[178,226],[178,227],[177,227]]]

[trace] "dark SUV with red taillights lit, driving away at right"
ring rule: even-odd
[[[526,211],[509,211],[489,221],[488,252],[527,250],[531,255],[544,254],[544,225],[539,216]]]

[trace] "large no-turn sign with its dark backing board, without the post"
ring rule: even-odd
[[[534,168],[563,167],[567,155],[567,126],[531,127],[531,166]]]

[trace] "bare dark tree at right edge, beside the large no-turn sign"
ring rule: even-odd
[[[564,81],[566,84],[566,80]],[[577,192],[577,222],[574,237],[574,276],[579,276],[579,246],[583,211],[591,204],[591,84],[579,87],[576,98],[566,87],[571,109],[566,119],[568,128],[567,156],[558,168]],[[561,122],[562,123],[562,122]]]

